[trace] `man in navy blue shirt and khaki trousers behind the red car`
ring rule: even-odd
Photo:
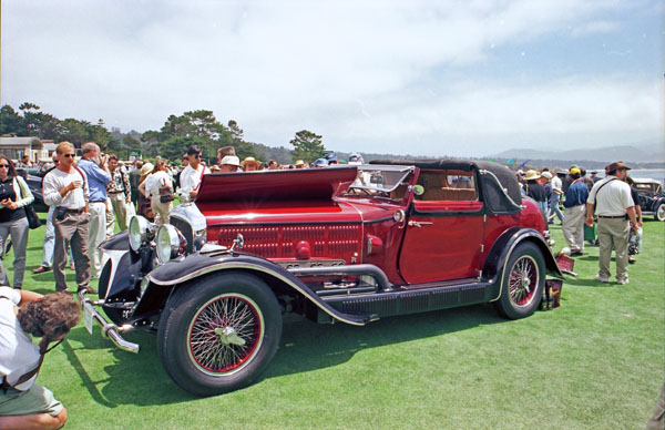
[[[589,197],[589,187],[580,180],[581,172],[579,167],[571,168],[569,176],[571,185],[565,192],[565,216],[561,229],[563,237],[571,248],[571,256],[582,255],[584,250],[584,219],[586,216],[586,197]]]

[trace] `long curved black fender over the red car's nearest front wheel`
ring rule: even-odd
[[[300,281],[287,269],[269,262],[265,258],[235,253],[195,253],[184,258],[178,258],[166,263],[152,270],[146,277],[150,287],[162,287],[172,289],[173,287],[187,284],[190,280],[202,276],[222,276],[225,270],[244,270],[259,275],[264,280],[270,284],[270,279],[286,285],[295,291],[301,294],[306,299],[315,304],[330,317],[342,322],[355,326],[364,326],[374,319],[370,315],[348,315],[335,309],[324,301],[307,285]],[[142,300],[143,301],[143,300]],[[141,308],[141,304],[140,304]],[[139,309],[137,309],[139,310]],[[143,309],[147,310],[147,309]]]

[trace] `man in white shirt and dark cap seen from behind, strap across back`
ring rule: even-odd
[[[601,283],[610,281],[610,259],[614,249],[616,283],[628,284],[627,237],[631,228],[637,229],[631,186],[624,182],[628,170],[631,167],[624,162],[610,164],[607,176],[595,183],[586,199],[586,225],[593,227],[593,216],[598,218],[600,258],[596,280]]]

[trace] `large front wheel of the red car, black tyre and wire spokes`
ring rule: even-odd
[[[282,309],[262,279],[221,270],[173,293],[157,331],[168,376],[193,395],[219,395],[252,383],[268,366]]]

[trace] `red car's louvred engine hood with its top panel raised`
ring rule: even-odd
[[[250,253],[294,258],[296,242],[310,240],[313,258],[350,260],[361,254],[362,222],[392,216],[362,198],[335,198],[356,173],[352,166],[205,175],[196,205],[211,242],[228,245],[242,233]]]

